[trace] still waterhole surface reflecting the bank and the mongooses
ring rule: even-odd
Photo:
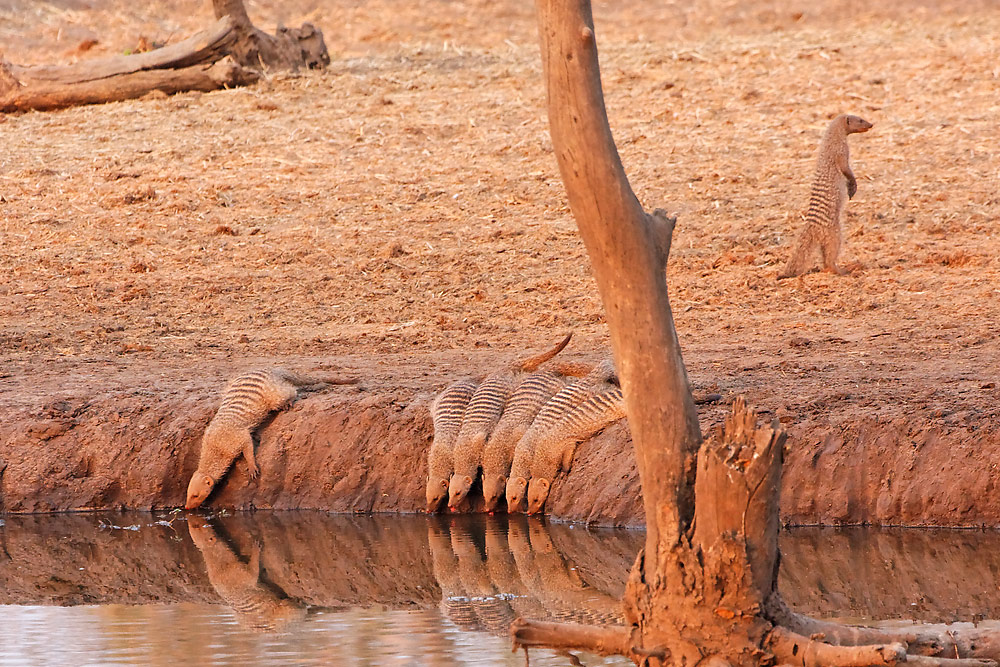
[[[643,538],[525,517],[12,516],[0,666],[523,665],[519,615],[622,622]],[[825,618],[995,617],[998,547],[992,532],[796,530],[780,585]]]

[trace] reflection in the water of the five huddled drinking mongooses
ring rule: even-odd
[[[440,517],[428,525],[428,543],[441,610],[462,629],[506,635],[518,616],[624,622],[620,595],[588,583],[540,519]]]

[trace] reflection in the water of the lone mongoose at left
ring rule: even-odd
[[[250,556],[244,562],[230,539],[206,521],[192,517],[188,532],[205,559],[208,580],[241,625],[254,632],[283,632],[305,618],[304,605],[261,581],[260,542],[252,540]]]

